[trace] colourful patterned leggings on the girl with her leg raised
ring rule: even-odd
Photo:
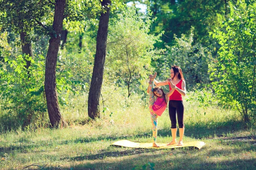
[[[154,105],[155,98],[154,98],[154,92],[152,91],[153,83],[150,85],[150,91],[149,91],[149,103],[148,108],[151,115],[151,122],[152,122],[152,130],[153,130],[153,143],[157,142],[157,114],[154,113],[152,110],[152,106]]]

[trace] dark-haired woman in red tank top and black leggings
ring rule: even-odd
[[[178,119],[179,132],[180,132],[180,140],[178,142],[178,146],[182,146],[183,135],[185,130],[185,126],[183,123],[184,106],[183,106],[182,96],[186,95],[186,83],[183,78],[181,68],[178,67],[177,65],[173,65],[171,68],[171,81],[168,81],[168,80],[169,79],[167,79],[164,82],[158,82],[157,80],[154,79],[154,84],[157,86],[169,85],[170,91],[172,89],[175,89],[175,91],[169,97],[169,116],[172,123],[172,127],[171,127],[172,142],[170,142],[168,145],[177,144],[177,141],[176,141],[176,133],[177,133],[176,112],[177,112],[177,119]]]

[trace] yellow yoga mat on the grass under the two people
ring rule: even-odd
[[[177,147],[195,147],[200,150],[201,147],[205,145],[205,143],[201,141],[183,142],[182,146],[178,146],[177,144],[167,146],[167,143],[157,143],[159,147],[152,147],[152,143],[137,143],[137,142],[131,142],[128,140],[121,140],[121,141],[113,142],[111,145],[132,147],[132,148],[146,148],[146,149],[170,149],[170,148],[177,148]]]

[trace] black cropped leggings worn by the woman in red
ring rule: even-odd
[[[181,100],[169,100],[169,116],[172,123],[172,129],[176,127],[176,111],[177,111],[177,118],[178,124],[180,128],[185,127],[183,123],[183,115],[184,115],[184,106],[183,101]]]

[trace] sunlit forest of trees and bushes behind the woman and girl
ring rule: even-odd
[[[254,131],[255,19],[254,0],[0,0],[0,133],[114,125],[172,65],[196,113]]]

